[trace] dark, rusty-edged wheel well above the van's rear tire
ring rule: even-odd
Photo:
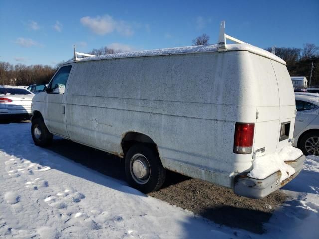
[[[124,155],[136,143],[144,143],[157,151],[155,142],[147,135],[137,132],[127,132],[122,139],[121,146]],[[158,152],[158,151],[157,151]]]

